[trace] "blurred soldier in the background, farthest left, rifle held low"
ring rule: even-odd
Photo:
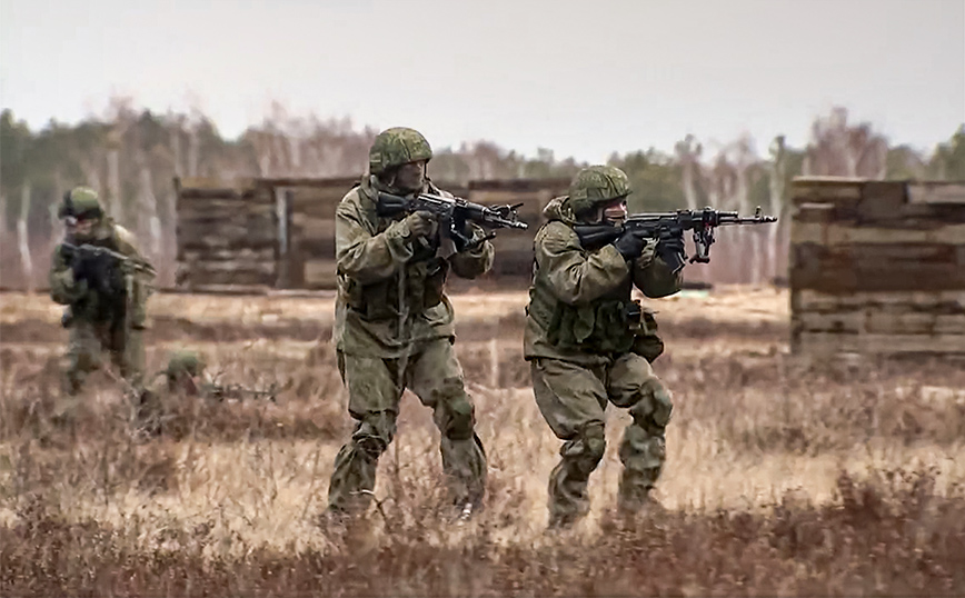
[[[140,389],[145,367],[142,332],[152,269],[133,236],[105,216],[92,189],[78,187],[63,197],[58,212],[67,237],[50,265],[50,297],[68,306],[62,323],[69,330],[63,390],[76,395],[87,375],[101,365],[101,352],[132,389]],[[71,249],[105,248],[116,256]]]

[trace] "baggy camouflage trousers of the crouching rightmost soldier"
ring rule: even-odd
[[[608,402],[633,417],[619,446],[624,469],[617,505],[624,512],[643,508],[664,467],[664,432],[673,409],[669,391],[647,360],[624,353],[600,366],[580,366],[537,358],[530,367],[539,411],[565,441],[549,477],[550,527],[568,526],[589,510],[587,485],[606,449]]]

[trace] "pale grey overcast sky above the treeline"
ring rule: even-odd
[[[40,128],[111,94],[408,126],[603,161],[777,133],[833,104],[931,150],[965,122],[965,0],[0,0],[0,104]]]

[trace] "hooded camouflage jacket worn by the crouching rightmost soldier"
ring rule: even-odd
[[[671,273],[655,256],[655,243],[648,243],[644,253],[628,265],[613,245],[584,249],[573,230],[576,218],[561,198],[550,201],[544,216],[549,222],[537,231],[534,242],[524,357],[581,365],[603,363],[615,353],[628,351],[648,357],[641,347],[647,335],[653,335],[663,350],[650,310],[643,308],[635,322],[625,317],[626,310],[634,307],[633,286],[651,298],[680,290],[680,275]],[[641,320],[643,328],[635,328]]]

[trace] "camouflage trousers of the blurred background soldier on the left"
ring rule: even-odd
[[[63,373],[66,395],[76,395],[87,376],[102,365],[105,352],[118,372],[133,388],[140,388],[145,370],[142,330],[112,322],[91,322],[76,319],[69,328],[67,366]]]

